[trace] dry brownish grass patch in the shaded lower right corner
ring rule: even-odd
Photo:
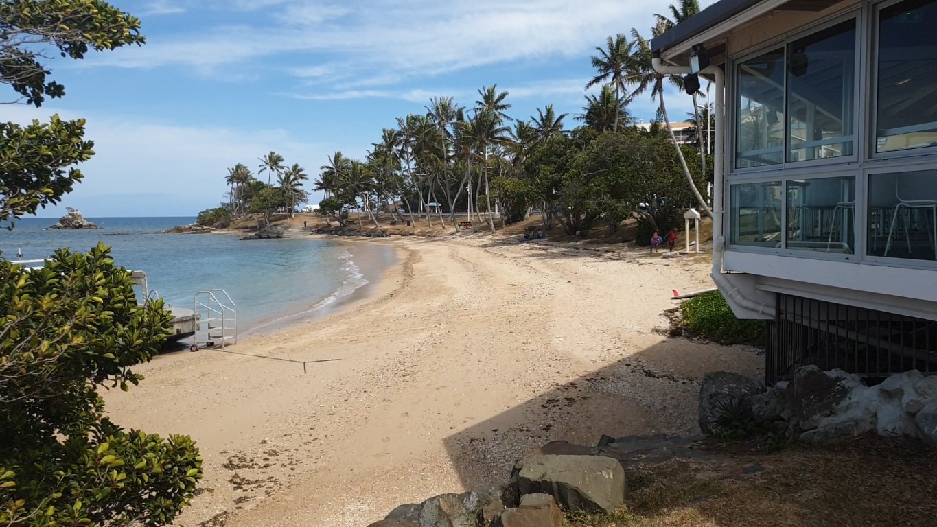
[[[775,454],[723,445],[725,461],[642,467],[613,514],[568,513],[564,527],[930,527],[937,450],[870,435]],[[757,466],[757,471],[744,468]]]

